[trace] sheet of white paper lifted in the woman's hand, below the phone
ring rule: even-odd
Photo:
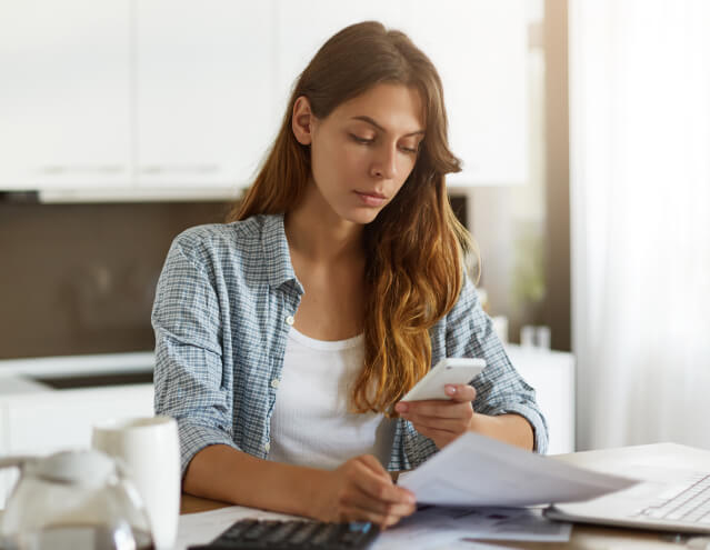
[[[637,482],[469,432],[401,474],[398,484],[420,503],[527,507],[589,500]]]

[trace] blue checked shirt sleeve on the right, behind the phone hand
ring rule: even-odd
[[[473,379],[477,394],[473,409],[482,414],[516,413],[534,431],[534,451],[547,452],[548,428],[531,388],[513,368],[482,310],[473,284],[467,279],[461,296],[446,320],[448,357],[478,357],[487,367]]]

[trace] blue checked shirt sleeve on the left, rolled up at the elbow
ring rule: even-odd
[[[232,439],[232,396],[222,369],[220,307],[208,270],[172,243],[151,316],[156,333],[154,408],[173,417],[182,476],[204,447]]]

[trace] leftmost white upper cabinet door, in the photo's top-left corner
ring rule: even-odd
[[[126,184],[129,2],[0,3],[0,189]]]

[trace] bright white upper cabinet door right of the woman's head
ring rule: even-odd
[[[443,83],[449,144],[463,162],[452,186],[528,181],[524,0],[410,0],[403,27]]]

